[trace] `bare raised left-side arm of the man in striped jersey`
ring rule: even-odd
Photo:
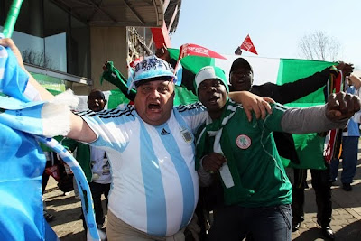
[[[35,89],[35,91],[38,91],[39,96],[42,98],[42,100],[51,101],[54,96],[51,95],[48,90],[43,88],[35,79],[33,79],[32,75],[27,70],[25,70],[22,55],[19,49],[14,44],[13,40],[0,39],[0,45],[9,47],[14,52],[14,55],[16,56],[20,67],[29,75],[29,82],[26,88],[29,88],[31,86]],[[66,135],[67,137],[87,143],[96,140],[96,134],[90,129],[90,127],[86,124],[86,122],[83,121],[81,117],[74,115],[72,112],[69,113],[69,116],[70,131],[69,134]]]

